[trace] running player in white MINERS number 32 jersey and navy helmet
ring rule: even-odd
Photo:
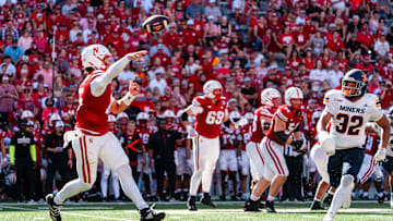
[[[350,197],[354,182],[365,156],[366,124],[373,120],[382,127],[380,147],[374,156],[377,162],[385,159],[390,136],[386,116],[378,97],[367,94],[367,75],[360,70],[347,72],[342,90],[330,90],[324,97],[325,108],[318,122],[321,147],[327,152],[330,184],[337,187],[324,220],[333,220],[337,210]],[[330,133],[326,131],[332,123]],[[329,145],[326,145],[329,144]],[[329,147],[329,148],[327,148]]]

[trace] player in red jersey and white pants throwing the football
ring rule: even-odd
[[[102,45],[92,45],[82,51],[82,65],[87,73],[79,88],[80,103],[76,111],[75,131],[64,134],[64,145],[72,144],[76,156],[79,179],[67,183],[53,196],[47,195],[50,218],[61,220],[60,205],[68,198],[92,188],[96,180],[98,158],[119,175],[124,194],[136,205],[141,220],[162,220],[164,212],[155,212],[143,200],[132,179],[128,157],[116,136],[108,132],[108,113],[121,113],[140,91],[136,83],[130,84],[129,93],[120,100],[111,97],[110,82],[131,60],[139,60],[147,51],[129,53],[111,64],[112,56]]]

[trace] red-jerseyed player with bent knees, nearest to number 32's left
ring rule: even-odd
[[[247,200],[246,211],[259,211],[259,202],[262,193],[269,187],[269,196],[265,208],[267,212],[276,212],[274,199],[288,176],[288,168],[284,159],[284,146],[290,145],[298,151],[302,147],[300,110],[302,93],[298,87],[289,87],[285,91],[285,103],[274,113],[272,125],[266,136],[262,139],[261,149],[265,160],[262,177],[252,189],[250,198]],[[290,138],[293,135],[294,139]]]

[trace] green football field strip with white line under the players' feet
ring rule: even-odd
[[[199,210],[190,212],[183,202],[157,202],[156,210],[166,211],[165,220],[322,220],[323,211],[310,211],[309,202],[277,202],[277,213],[243,212],[242,201],[217,202],[218,209],[199,206]],[[139,220],[135,207],[131,202],[81,202],[67,204],[62,207],[62,220]],[[0,221],[5,220],[50,220],[44,204],[0,204]],[[393,210],[388,202],[354,201],[352,208],[341,209],[335,220],[392,220]]]

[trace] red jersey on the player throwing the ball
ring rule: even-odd
[[[108,132],[108,109],[111,102],[111,84],[108,84],[103,95],[95,97],[91,91],[92,81],[103,74],[103,70],[88,74],[79,88],[79,107],[75,127],[88,130],[98,134]],[[86,132],[86,131],[85,131]]]

